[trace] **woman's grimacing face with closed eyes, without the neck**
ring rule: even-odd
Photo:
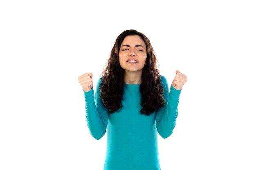
[[[146,44],[139,35],[124,38],[119,51],[119,62],[126,73],[142,73],[146,58]]]

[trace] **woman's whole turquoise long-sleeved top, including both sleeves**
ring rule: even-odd
[[[163,138],[173,133],[181,90],[171,88],[162,76],[165,106],[149,116],[141,114],[140,84],[124,84],[123,108],[108,114],[100,98],[97,82],[94,91],[84,92],[86,122],[90,134],[99,140],[107,132],[106,158],[103,170],[161,170],[157,132]]]

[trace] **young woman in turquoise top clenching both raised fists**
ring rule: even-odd
[[[176,71],[169,88],[159,75],[148,38],[126,30],[115,41],[103,76],[92,88],[92,73],[79,76],[87,126],[99,140],[107,132],[104,170],[160,170],[157,132],[169,137],[186,75]]]

